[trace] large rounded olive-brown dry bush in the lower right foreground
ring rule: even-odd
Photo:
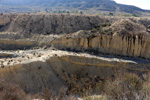
[[[113,100],[135,100],[142,90],[142,84],[136,74],[126,73],[114,81],[107,81],[104,90]]]

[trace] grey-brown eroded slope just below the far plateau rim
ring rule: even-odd
[[[21,34],[62,34],[89,30],[107,21],[98,16],[23,14],[18,15],[5,31]]]

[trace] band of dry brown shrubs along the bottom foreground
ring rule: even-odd
[[[147,75],[149,77],[149,75]],[[75,80],[72,80],[75,81]],[[85,82],[86,80],[82,80]],[[75,82],[76,83],[76,82]],[[80,84],[82,85],[82,84]],[[91,85],[92,86],[92,85]],[[80,87],[79,89],[82,89]],[[49,89],[33,96],[27,95],[19,86],[6,81],[0,82],[0,100],[77,100],[75,91],[66,95],[65,88],[61,88],[58,95]],[[91,91],[91,92],[89,92]],[[97,95],[93,95],[93,93]],[[96,88],[89,87],[88,91],[83,89],[81,92],[83,100],[148,100],[150,96],[149,79],[142,80],[134,73],[125,73],[123,76],[117,76],[114,80],[107,79],[104,82],[98,82]]]

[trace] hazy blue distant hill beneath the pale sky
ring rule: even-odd
[[[150,12],[141,8],[117,4],[113,0],[0,0],[0,12],[32,12],[35,8],[64,8],[64,9],[78,9],[88,10],[95,9],[96,11],[109,11],[109,12],[125,12],[125,13],[140,13]]]

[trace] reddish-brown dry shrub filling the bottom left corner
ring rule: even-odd
[[[27,94],[18,85],[0,81],[0,100],[27,100]]]

